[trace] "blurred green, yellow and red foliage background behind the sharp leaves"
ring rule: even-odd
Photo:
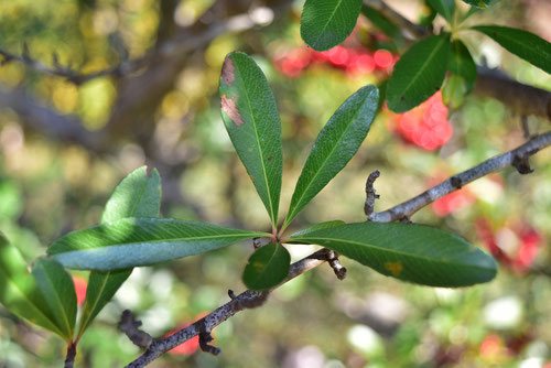
[[[387,3],[412,21],[429,12],[423,1]],[[407,47],[360,17],[341,46],[313,52],[300,37],[302,4],[0,1],[0,50],[30,59],[4,55],[0,67],[0,229],[32,262],[56,237],[97,224],[117,183],[143,164],[161,173],[164,216],[268,229],[220,119],[225,55],[253,55],[274,91],[283,125],[284,215],[320,129],[357,88],[382,83]],[[550,14],[545,0],[500,1],[471,22],[551,40]],[[478,64],[551,89],[551,76],[489,39],[465,32],[464,40]],[[37,71],[69,66],[86,74],[117,65],[89,80]],[[549,129],[540,117],[525,120],[532,132]],[[440,94],[403,115],[383,108],[358,154],[295,225],[365,220],[365,180],[376,169],[376,209],[382,210],[523,140],[521,118],[507,104],[476,94],[453,110]],[[531,159],[534,173],[488,175],[412,218],[491,252],[500,262],[491,283],[417,286],[343,259],[345,281],[318,267],[262,307],[224,323],[214,332],[222,355],[201,353],[191,340],[152,367],[551,367],[550,162],[550,150],[542,151]],[[290,250],[294,259],[313,251]],[[244,290],[251,251],[244,243],[134,269],[85,334],[76,366],[120,367],[139,355],[116,329],[125,309],[161,336],[225,303],[228,289]],[[83,294],[86,272],[74,278]],[[60,367],[64,353],[61,339],[0,306],[0,367]]]

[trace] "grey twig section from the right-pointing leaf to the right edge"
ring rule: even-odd
[[[421,193],[420,195],[406,201],[390,209],[380,213],[374,213],[368,216],[368,219],[376,223],[390,223],[409,218],[419,209],[436,201],[437,198],[441,198],[444,195],[450,194],[479,177],[510,165],[515,166],[520,174],[528,174],[531,172],[531,169],[528,164],[528,158],[549,145],[551,145],[551,131],[534,136],[525,144],[516,148],[515,150],[496,155],[472,169],[453,175],[444,182]]]

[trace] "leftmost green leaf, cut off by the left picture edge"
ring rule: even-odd
[[[19,250],[0,232],[0,302],[13,314],[65,337]]]

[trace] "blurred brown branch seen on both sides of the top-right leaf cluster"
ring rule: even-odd
[[[432,34],[429,28],[410,22],[381,0],[364,0],[364,3],[400,26],[409,40]],[[499,71],[479,67],[474,91],[500,100],[518,115],[534,115],[551,121],[551,91],[521,84]]]

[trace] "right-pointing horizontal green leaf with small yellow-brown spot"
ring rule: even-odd
[[[333,249],[376,271],[431,286],[467,286],[496,275],[494,259],[463,238],[413,224],[348,224],[292,237]]]

